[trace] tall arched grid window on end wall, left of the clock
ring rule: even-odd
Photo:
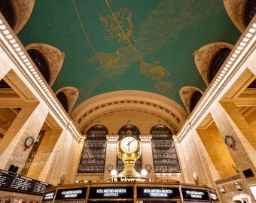
[[[91,127],[81,154],[78,173],[104,173],[108,129],[102,125]]]

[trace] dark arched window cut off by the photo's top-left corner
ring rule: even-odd
[[[11,5],[10,0],[2,0],[0,1],[0,12],[5,17],[5,20],[8,22],[11,28],[14,28],[14,10]]]

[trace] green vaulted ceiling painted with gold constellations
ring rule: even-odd
[[[104,92],[156,92],[181,106],[183,86],[206,89],[195,50],[235,44],[240,33],[222,0],[36,0],[19,33],[26,46],[50,44],[66,59],[53,84],[79,89],[76,105]]]

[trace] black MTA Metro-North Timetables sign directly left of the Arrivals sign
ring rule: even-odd
[[[85,198],[86,193],[87,187],[73,189],[58,189],[55,199]]]

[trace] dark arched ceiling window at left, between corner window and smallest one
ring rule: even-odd
[[[47,62],[44,59],[44,56],[42,56],[41,53],[35,49],[30,49],[27,52],[29,53],[29,56],[31,57],[33,62],[35,62],[35,65],[38,67],[38,70],[43,75],[44,80],[46,80],[47,83],[49,83],[50,82],[50,71],[49,71]]]

